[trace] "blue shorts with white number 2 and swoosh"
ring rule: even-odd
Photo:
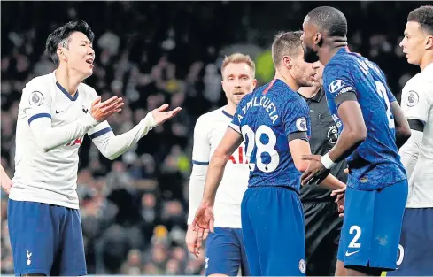
[[[347,187],[338,259],[344,266],[396,269],[407,181],[379,190]]]

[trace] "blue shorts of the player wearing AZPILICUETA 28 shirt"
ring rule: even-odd
[[[305,276],[304,211],[294,190],[248,188],[241,219],[251,276]]]

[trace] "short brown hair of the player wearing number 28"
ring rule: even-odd
[[[275,35],[272,43],[272,60],[275,67],[280,65],[282,57],[298,54],[298,48],[302,47],[301,35],[302,31],[280,32]]]

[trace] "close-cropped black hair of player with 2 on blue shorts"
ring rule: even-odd
[[[347,19],[343,12],[330,7],[317,7],[307,15],[322,31],[328,33],[329,36],[346,36],[347,35]]]

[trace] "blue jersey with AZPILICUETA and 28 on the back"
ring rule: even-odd
[[[289,137],[310,136],[308,105],[283,81],[270,83],[244,96],[230,127],[244,137],[250,164],[249,187],[285,186],[297,191],[301,173],[289,149]]]

